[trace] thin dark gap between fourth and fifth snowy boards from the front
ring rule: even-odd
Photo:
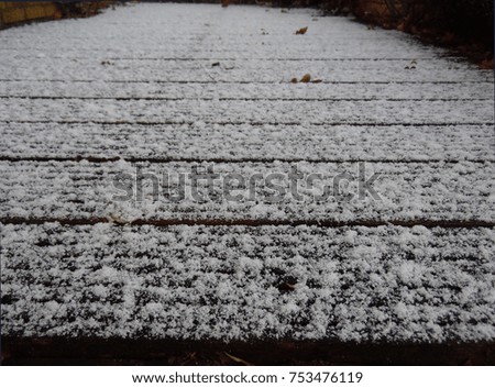
[[[493,98],[276,98],[276,97],[261,97],[261,98],[243,98],[243,97],[219,97],[219,98],[199,98],[199,97],[160,97],[160,96],[145,96],[145,97],[109,97],[109,96],[0,96],[0,99],[22,99],[22,100],[114,100],[114,101],[355,101],[355,102],[370,102],[370,101],[494,101]]]

